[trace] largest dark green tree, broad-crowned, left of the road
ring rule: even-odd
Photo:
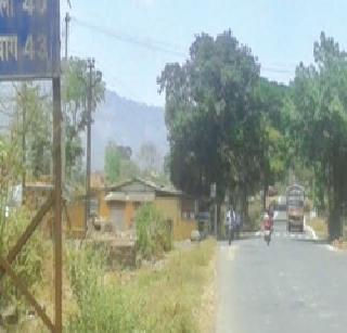
[[[172,182],[208,195],[217,183],[246,197],[259,180],[259,64],[231,31],[196,37],[183,65],[167,64],[158,78],[166,93]],[[234,192],[234,191],[231,191]],[[244,201],[246,201],[244,198]]]

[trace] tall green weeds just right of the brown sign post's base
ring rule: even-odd
[[[78,311],[66,332],[134,332],[136,311],[117,285],[106,285],[107,248],[82,244],[67,251],[68,277]]]

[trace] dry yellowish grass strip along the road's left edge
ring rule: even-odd
[[[215,241],[207,240],[175,251],[163,266],[130,278],[126,289],[147,299],[141,310],[141,317],[147,317],[147,332],[211,332],[215,246]]]

